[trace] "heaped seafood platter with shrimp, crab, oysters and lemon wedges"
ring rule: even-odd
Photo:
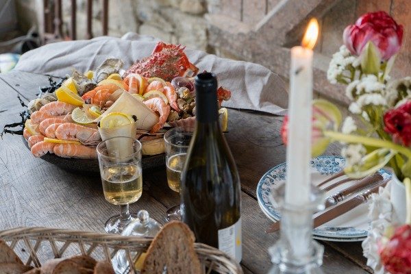
[[[99,171],[99,142],[130,136],[142,143],[143,168],[145,162],[149,167],[164,164],[166,129],[195,123],[193,77],[198,71],[184,47],[164,42],[127,70],[114,58],[94,71],[73,70],[52,92],[28,104],[26,145],[35,157],[66,169]],[[221,103],[231,92],[220,87],[217,93],[225,130],[227,110]]]

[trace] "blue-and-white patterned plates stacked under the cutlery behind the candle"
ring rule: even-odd
[[[345,166],[345,159],[338,156],[320,156],[311,161],[312,184],[320,184],[328,177],[340,172]],[[378,171],[384,179],[389,179],[391,173],[385,169]],[[334,182],[343,179],[337,178]],[[277,204],[273,201],[273,190],[282,186],[286,179],[286,163],[279,164],[267,171],[257,186],[258,205],[262,212],[272,221],[280,219]],[[326,193],[332,195],[353,183],[343,184]],[[274,204],[272,203],[274,202]],[[360,241],[364,240],[369,232],[368,204],[364,203],[338,218],[314,229],[314,238],[319,240],[334,241]]]

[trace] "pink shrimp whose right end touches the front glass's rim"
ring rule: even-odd
[[[55,129],[55,137],[60,140],[79,140],[86,144],[98,142],[101,137],[98,129],[84,127],[75,123],[62,123]]]

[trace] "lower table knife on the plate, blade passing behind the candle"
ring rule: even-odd
[[[320,225],[323,225],[329,221],[332,221],[336,219],[338,216],[341,216],[342,214],[349,212],[349,210],[352,210],[358,206],[360,206],[362,203],[366,203],[369,201],[371,194],[377,193],[379,190],[379,187],[386,186],[388,183],[389,179],[382,181],[380,184],[377,186],[374,186],[373,188],[366,190],[354,197],[353,199],[346,201],[345,203],[341,203],[340,205],[336,206],[335,208],[332,208],[330,210],[327,210],[326,212],[323,212],[319,216],[316,216],[314,218],[314,225],[313,228],[319,227]],[[268,229],[266,229],[266,233],[273,233],[276,232],[281,225],[280,221],[277,221],[276,223],[273,223]]]

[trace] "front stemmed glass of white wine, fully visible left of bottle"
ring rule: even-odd
[[[105,199],[121,208],[121,214],[105,223],[105,232],[120,234],[134,219],[129,204],[142,195],[141,143],[130,137],[113,137],[97,145]]]

